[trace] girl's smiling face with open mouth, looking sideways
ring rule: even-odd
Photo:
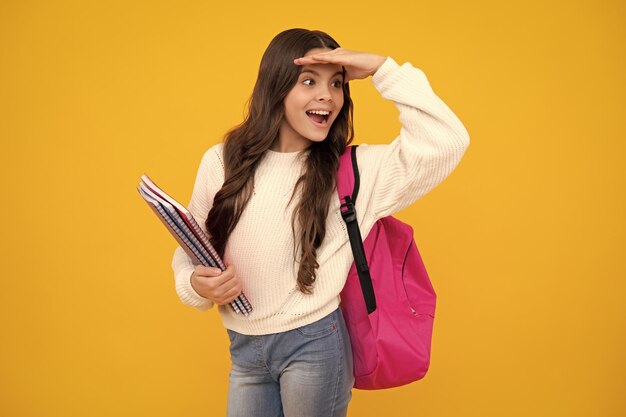
[[[315,48],[304,56],[330,51]],[[295,86],[284,100],[285,117],[274,150],[295,152],[326,139],[343,106],[342,68],[337,64],[311,64],[300,67]]]

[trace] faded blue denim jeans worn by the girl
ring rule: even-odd
[[[339,417],[354,374],[341,309],[297,329],[247,336],[227,329],[228,417]]]

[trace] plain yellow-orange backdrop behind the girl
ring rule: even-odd
[[[224,415],[228,338],[178,300],[186,204],[278,32],[424,70],[471,137],[398,214],[438,293],[431,369],[351,416],[624,416],[626,7],[617,1],[0,3],[0,415]],[[351,83],[356,143],[397,110]]]

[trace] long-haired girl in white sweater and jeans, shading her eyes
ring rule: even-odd
[[[353,137],[349,81],[370,76],[402,129],[388,145],[357,148],[365,237],[443,181],[469,145],[409,63],[342,49],[320,31],[281,32],[261,59],[245,120],[202,158],[188,208],[206,219],[227,270],[194,265],[181,248],[172,268],[183,303],[218,305],[230,339],[229,416],[347,413],[352,351],[338,307],[353,258],[335,185]],[[248,317],[227,305],[242,290]]]

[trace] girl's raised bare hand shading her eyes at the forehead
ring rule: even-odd
[[[297,65],[310,64],[338,64],[346,70],[344,82],[367,78],[380,68],[387,58],[381,55],[367,52],[349,51],[343,48],[332,51],[320,52],[296,58],[293,62]]]

